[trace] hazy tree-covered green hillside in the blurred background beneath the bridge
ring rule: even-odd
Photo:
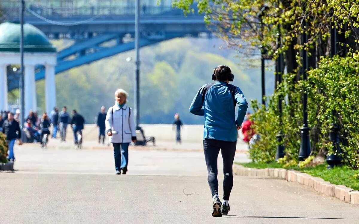
[[[57,40],[53,44],[61,50],[71,41]],[[115,90],[122,88],[129,92],[127,101],[133,108],[134,56],[134,51],[129,51],[58,74],[58,107],[76,109],[87,123],[93,123],[101,106],[112,106]],[[128,57],[131,62],[126,61]],[[140,58],[141,123],[172,123],[174,114],[179,113],[185,124],[202,124],[203,118],[190,114],[188,108],[200,87],[212,82],[211,74],[221,64],[232,69],[233,84],[242,89],[248,101],[260,100],[260,68],[248,66],[250,58],[238,56],[220,39],[172,39],[142,48]],[[253,60],[251,64],[260,65],[258,59]],[[274,72],[272,66],[268,67],[267,95],[274,90]],[[38,108],[45,108],[44,84],[43,80],[36,84]]]

